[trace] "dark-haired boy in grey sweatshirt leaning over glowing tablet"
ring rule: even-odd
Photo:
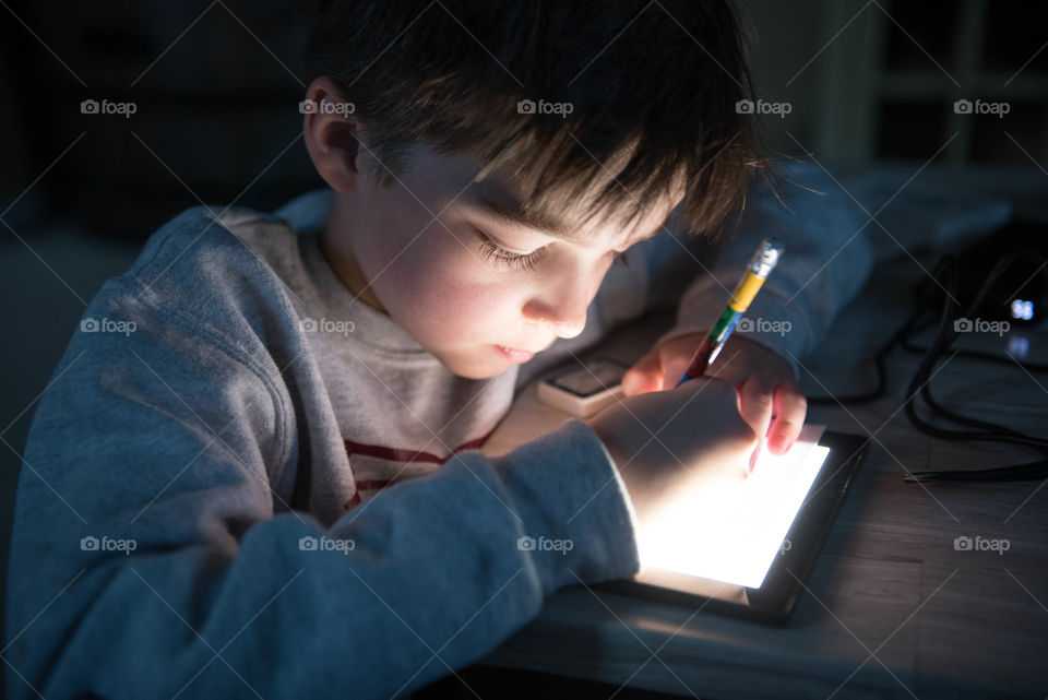
[[[859,227],[837,194],[797,188],[794,213],[755,194],[717,251],[690,235],[763,163],[722,2],[330,0],[308,63],[329,188],[168,223],[40,402],[11,698],[408,693],[559,588],[633,574],[663,490],[803,423],[791,356],[857,290],[864,248],[842,249]],[[787,253],[750,316],[791,332],[738,334],[719,379],[656,391],[769,233]],[[472,449],[535,354],[678,300],[627,377],[640,395],[501,459]]]

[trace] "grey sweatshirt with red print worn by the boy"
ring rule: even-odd
[[[758,194],[714,250],[683,233],[634,247],[582,335],[489,380],[341,284],[318,245],[330,191],[183,212],[91,302],[34,416],[8,697],[406,695],[558,589],[633,574],[632,509],[584,423],[473,448],[537,368],[645,310],[680,301],[672,333],[708,328],[770,234],[787,254],[748,316],[793,329],[752,336],[811,349],[869,252],[839,191],[791,177],[829,193],[793,189],[791,211]]]

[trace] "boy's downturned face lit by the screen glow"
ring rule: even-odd
[[[660,230],[680,199],[653,203],[632,223],[581,225],[577,211],[565,211],[526,225],[505,215],[520,211],[508,166],[475,181],[484,166],[476,158],[419,146],[383,187],[362,175],[369,157],[361,151],[355,191],[336,194],[329,261],[362,301],[473,379],[581,333],[617,252]]]

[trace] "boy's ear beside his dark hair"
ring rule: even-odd
[[[310,83],[301,110],[306,149],[320,177],[336,192],[355,192],[362,177],[357,142],[361,123],[352,103],[330,78],[321,76]]]

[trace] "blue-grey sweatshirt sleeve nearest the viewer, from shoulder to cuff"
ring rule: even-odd
[[[621,480],[579,422],[461,453],[326,530],[275,508],[307,429],[279,368],[178,312],[108,304],[135,296],[120,284],[28,437],[9,698],[389,698],[484,656],[576,577],[639,568]]]

